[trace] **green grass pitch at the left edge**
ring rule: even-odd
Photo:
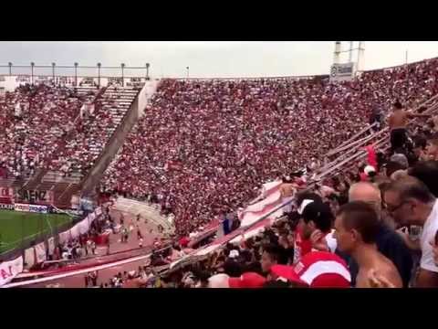
[[[58,226],[71,220],[67,215],[0,210],[0,254],[41,234],[56,233]]]

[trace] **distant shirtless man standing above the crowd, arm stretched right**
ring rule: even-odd
[[[404,111],[400,101],[394,103],[393,111],[388,119],[391,131],[391,151],[403,148],[407,142],[408,135],[406,126],[408,120],[416,117],[430,117],[428,114],[413,114],[411,111]]]

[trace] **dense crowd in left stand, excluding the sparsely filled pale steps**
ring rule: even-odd
[[[23,85],[0,99],[0,167],[2,174],[33,175],[38,167],[68,171],[69,159],[61,154],[82,105],[94,93],[55,85]],[[1,96],[0,96],[1,97]]]

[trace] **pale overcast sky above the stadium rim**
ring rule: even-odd
[[[8,62],[29,65],[33,61],[36,65],[78,62],[95,66],[100,62],[102,66],[125,63],[127,67],[144,67],[149,62],[150,74],[156,78],[186,77],[186,67],[190,68],[191,78],[317,75],[328,74],[334,44],[334,41],[0,41],[0,65]],[[342,48],[349,48],[349,41],[342,41]],[[406,50],[408,62],[438,57],[438,42],[365,41],[364,67],[380,69],[404,64]],[[347,60],[348,54],[343,56]],[[84,69],[83,75],[91,71]]]

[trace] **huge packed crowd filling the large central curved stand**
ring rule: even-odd
[[[438,59],[359,79],[162,80],[102,191],[155,196],[180,234],[235,211],[263,183],[322,156],[394,101],[412,108],[438,92]]]

